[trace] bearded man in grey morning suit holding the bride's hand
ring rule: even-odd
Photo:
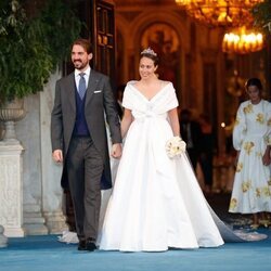
[[[121,155],[121,136],[109,78],[90,68],[91,44],[78,39],[72,49],[74,73],[56,81],[51,115],[53,159],[63,163],[62,186],[70,191],[79,250],[93,251],[101,189],[112,188],[104,116],[112,153]]]

